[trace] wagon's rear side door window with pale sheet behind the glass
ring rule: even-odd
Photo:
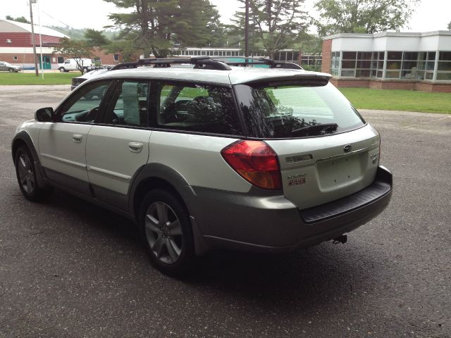
[[[107,112],[105,123],[147,127],[148,94],[148,82],[124,81],[119,84],[115,92],[116,104],[113,111]]]

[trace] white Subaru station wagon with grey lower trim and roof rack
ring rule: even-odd
[[[87,80],[18,127],[20,190],[58,187],[135,220],[168,275],[215,247],[345,242],[390,201],[379,134],[330,75],[261,63],[140,60]]]

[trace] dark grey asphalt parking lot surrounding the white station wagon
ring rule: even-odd
[[[0,86],[0,337],[451,337],[451,115],[361,112],[395,189],[347,244],[216,252],[180,281],[149,265],[130,221],[20,194],[16,125],[69,90]]]

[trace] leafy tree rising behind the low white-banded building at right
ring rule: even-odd
[[[319,0],[320,35],[399,31],[419,0]]]

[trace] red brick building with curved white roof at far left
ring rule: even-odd
[[[35,25],[36,52],[38,67],[58,69],[58,63],[63,63],[61,54],[54,53],[60,39],[66,37],[61,32],[51,28],[41,27],[42,59],[39,39],[39,26]],[[100,49],[94,49],[93,58],[104,65],[114,65],[122,61],[120,54],[105,54]],[[31,25],[11,20],[0,20],[0,61],[20,65],[23,68],[34,68]]]

